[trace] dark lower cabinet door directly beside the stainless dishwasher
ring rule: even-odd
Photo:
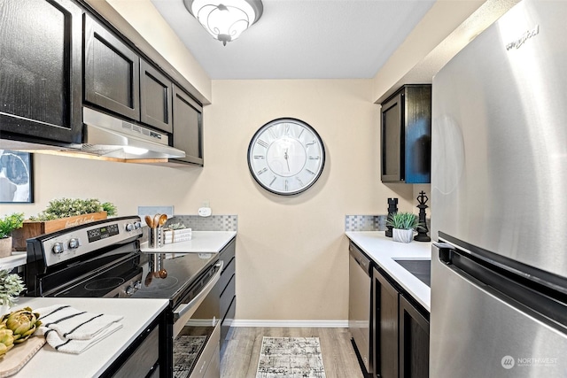
[[[377,377],[398,377],[398,290],[374,269],[375,356]]]

